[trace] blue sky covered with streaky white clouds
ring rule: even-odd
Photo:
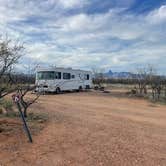
[[[166,75],[166,0],[0,0],[1,34],[39,64]]]

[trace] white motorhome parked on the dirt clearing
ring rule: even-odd
[[[90,71],[72,68],[38,68],[36,71],[37,91],[56,92],[89,89],[92,86]]]

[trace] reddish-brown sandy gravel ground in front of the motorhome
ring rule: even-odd
[[[49,122],[33,144],[21,126],[0,133],[0,166],[166,165],[164,105],[82,92],[41,96],[31,111]]]

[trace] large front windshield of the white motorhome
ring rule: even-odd
[[[54,71],[40,71],[37,73],[38,80],[53,80],[55,79]]]

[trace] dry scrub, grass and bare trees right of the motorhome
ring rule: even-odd
[[[109,85],[118,87],[118,84],[120,84],[122,87],[127,87],[127,94],[130,96],[144,97],[153,102],[166,103],[166,77],[159,76],[156,73],[154,67],[148,65],[138,69],[135,78],[110,79],[103,75],[101,77],[101,74],[94,74],[93,83],[97,87],[109,87]],[[97,89],[96,86],[95,89]]]

